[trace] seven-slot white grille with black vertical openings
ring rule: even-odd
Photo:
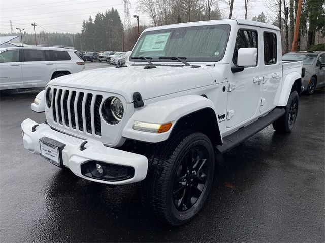
[[[55,123],[101,135],[102,95],[54,88],[52,96],[51,109]]]

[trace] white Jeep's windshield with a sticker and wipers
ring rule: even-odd
[[[223,58],[229,33],[228,24],[148,31],[141,35],[131,56],[152,57],[152,61],[186,57],[189,62],[217,62]]]

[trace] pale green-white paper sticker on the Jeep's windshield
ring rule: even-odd
[[[140,52],[163,51],[169,34],[170,32],[147,35],[143,41]]]

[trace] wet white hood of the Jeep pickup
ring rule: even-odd
[[[134,92],[140,92],[142,99],[147,100],[211,85],[213,79],[203,67],[128,66],[83,71],[55,78],[48,84],[120,94],[132,103]]]

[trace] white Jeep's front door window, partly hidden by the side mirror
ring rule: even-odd
[[[237,57],[238,57],[238,49],[245,47],[256,47],[258,49],[258,38],[257,32],[254,30],[244,30],[240,29],[237,32],[235,50],[233,55],[233,63],[237,66]],[[258,58],[256,61],[256,65],[258,62]],[[255,65],[255,66],[256,66]]]

